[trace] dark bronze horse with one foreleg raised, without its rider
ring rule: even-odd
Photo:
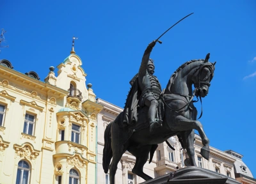
[[[151,180],[150,176],[143,173],[143,165],[147,162],[149,154],[149,163],[152,161],[157,144],[166,141],[173,135],[179,137],[182,148],[186,149],[190,165],[196,166],[193,146],[194,129],[202,138],[203,147],[200,154],[205,159],[209,159],[209,139],[205,135],[200,121],[196,120],[197,111],[193,105],[194,96],[199,96],[200,99],[207,96],[210,82],[214,76],[216,62],[209,62],[209,56],[210,54],[207,54],[205,59],[195,59],[184,63],[170,77],[166,89],[162,91],[161,95],[164,102],[163,123],[154,132],[150,132],[148,119],[145,116],[148,111],[147,107],[138,110],[136,125],[120,127],[120,118],[118,117],[109,123],[104,132],[103,169],[105,173],[108,173],[109,169],[111,184],[115,183],[117,164],[125,151],[129,151],[136,157],[132,173],[144,180]],[[193,89],[193,85],[195,89]],[[138,127],[138,125],[145,125],[145,122],[147,126]]]

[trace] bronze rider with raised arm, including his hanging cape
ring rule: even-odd
[[[150,132],[154,132],[157,127],[161,127],[162,119],[159,104],[161,100],[161,85],[156,76],[154,76],[154,61],[150,59],[150,52],[156,45],[156,40],[148,44],[142,57],[140,70],[134,76],[130,84],[131,91],[127,97],[124,109],[124,125],[133,125],[138,120],[137,109],[148,107],[147,118],[150,125]]]

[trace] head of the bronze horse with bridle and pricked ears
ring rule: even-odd
[[[196,90],[196,96],[205,97],[208,94],[210,82],[214,75],[215,63],[210,63],[208,60],[210,53],[208,53],[204,61],[198,66],[193,75],[193,83]]]

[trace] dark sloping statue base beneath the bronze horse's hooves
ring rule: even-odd
[[[202,169],[200,167],[189,166],[179,169],[170,174],[145,181],[140,184],[185,184],[185,183],[215,183],[215,184],[241,184],[234,178],[230,178],[220,173]]]

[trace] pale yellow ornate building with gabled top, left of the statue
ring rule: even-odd
[[[95,183],[102,105],[74,47],[44,82],[0,64],[0,183]]]

